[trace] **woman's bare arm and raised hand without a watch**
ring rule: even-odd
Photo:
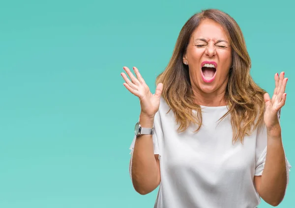
[[[268,93],[264,96],[266,104],[264,123],[267,130],[266,162],[262,176],[254,179],[257,192],[272,206],[281,203],[287,187],[286,157],[278,118],[278,112],[285,105],[287,96],[285,89],[288,78],[284,78],[284,75],[284,72],[275,75],[272,98],[270,99]]]

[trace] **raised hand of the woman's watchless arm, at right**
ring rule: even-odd
[[[266,103],[264,122],[267,130],[277,129],[277,127],[280,126],[278,111],[281,110],[281,108],[285,105],[287,96],[285,89],[288,78],[284,78],[284,76],[284,72],[281,72],[280,75],[278,73],[275,74],[275,89],[271,99],[268,93],[264,95],[264,100]]]

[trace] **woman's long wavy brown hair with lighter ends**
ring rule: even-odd
[[[229,72],[225,100],[229,111],[220,118],[231,115],[233,142],[243,142],[245,135],[262,124],[265,103],[265,90],[260,88],[250,76],[251,59],[246,49],[245,40],[236,21],[217,9],[203,10],[193,15],[182,27],[171,60],[165,71],[156,79],[156,84],[163,83],[162,96],[173,110],[178,131],[184,131],[191,123],[197,124],[198,131],[202,126],[201,106],[195,103],[188,66],[182,62],[183,54],[190,37],[202,20],[211,19],[225,30],[232,47],[233,67]],[[192,110],[196,110],[196,114]]]

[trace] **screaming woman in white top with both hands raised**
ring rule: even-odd
[[[155,208],[277,206],[289,169],[279,124],[287,78],[276,74],[274,95],[250,77],[239,26],[209,9],[181,29],[155,94],[134,67],[124,86],[139,97],[130,175],[140,194],[159,184]],[[267,150],[267,151],[266,151]]]

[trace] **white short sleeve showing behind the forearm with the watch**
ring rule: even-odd
[[[160,147],[159,147],[159,139],[163,137],[163,130],[162,130],[162,124],[161,124],[159,111],[155,114],[153,128],[154,128],[154,133],[152,135],[152,142],[153,142],[154,155],[159,155],[159,159],[160,159],[161,151],[160,151]],[[134,150],[136,139],[137,139],[137,137],[134,135],[131,145],[129,147],[130,155],[131,155],[130,163],[129,163],[129,174],[130,174],[131,179],[132,179],[132,177],[131,177],[132,156],[133,156],[133,150]]]

